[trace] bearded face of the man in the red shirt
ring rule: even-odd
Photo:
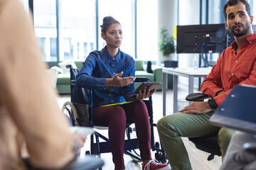
[[[245,4],[240,2],[235,6],[228,6],[226,9],[227,21],[225,26],[230,33],[233,33],[235,37],[240,37],[250,33],[250,26],[252,24],[252,16],[248,16],[248,13],[245,9]]]

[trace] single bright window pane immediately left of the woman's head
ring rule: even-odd
[[[85,60],[96,50],[95,0],[61,0],[58,8],[60,61]]]

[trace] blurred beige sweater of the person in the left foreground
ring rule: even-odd
[[[0,0],[0,169],[31,163],[60,168],[74,157],[68,121],[58,108],[33,24],[18,0]]]

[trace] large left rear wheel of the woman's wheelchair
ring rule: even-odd
[[[73,105],[72,102],[70,101],[67,101],[63,104],[63,107],[61,108],[61,111],[65,114],[65,115],[68,115],[68,117],[70,118],[71,120],[71,123],[73,126],[78,126],[79,123],[78,123],[78,113],[76,111],[76,108],[75,106]]]

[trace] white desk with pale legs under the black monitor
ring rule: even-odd
[[[188,94],[193,93],[193,78],[207,77],[211,67],[193,69],[188,68],[163,68],[163,116],[166,115],[166,75],[172,74],[174,77],[174,113],[178,112],[178,76],[188,77]],[[190,102],[191,103],[191,102]]]

